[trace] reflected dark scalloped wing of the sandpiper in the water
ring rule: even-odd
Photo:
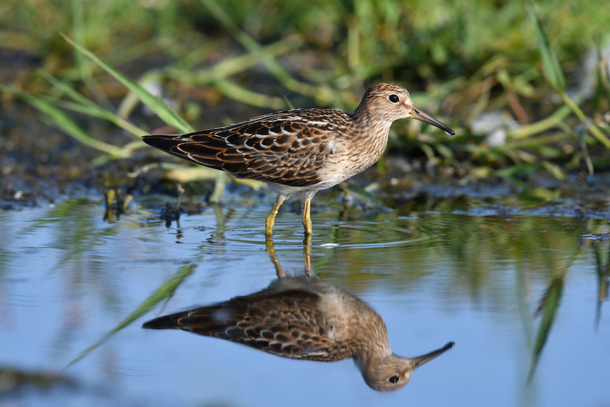
[[[165,315],[143,327],[190,331],[278,356],[325,361],[338,344],[319,300],[320,295],[298,289],[260,292]]]

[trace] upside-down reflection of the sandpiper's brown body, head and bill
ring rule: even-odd
[[[379,314],[338,287],[309,278],[280,278],[260,292],[165,315],[143,328],[190,331],[292,359],[354,358],[365,382],[378,391],[403,387],[415,367],[453,347],[450,342],[412,359],[394,355]]]

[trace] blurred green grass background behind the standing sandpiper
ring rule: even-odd
[[[19,74],[1,90],[104,162],[144,146],[109,145],[79,115],[137,136],[162,123],[185,132],[292,106],[351,110],[368,85],[395,81],[458,136],[405,121],[390,152],[467,181],[533,169],[562,179],[610,167],[608,21],[601,0],[7,0],[0,56]],[[160,117],[146,129],[138,99]],[[490,112],[502,118],[491,129]]]

